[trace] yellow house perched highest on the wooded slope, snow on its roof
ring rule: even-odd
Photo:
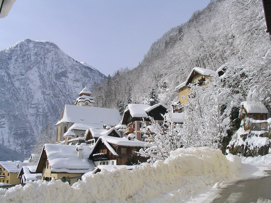
[[[188,84],[205,85],[204,82],[215,74],[216,72],[210,69],[193,68],[186,81],[175,88],[175,91],[179,92],[179,103],[188,104]]]

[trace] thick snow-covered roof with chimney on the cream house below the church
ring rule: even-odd
[[[52,172],[86,173],[93,170],[95,165],[90,161],[90,147],[83,147],[83,158],[79,159],[75,145],[45,144],[49,166]]]

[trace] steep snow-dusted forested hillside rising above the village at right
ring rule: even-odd
[[[262,1],[212,1],[154,42],[138,67],[120,69],[107,78],[95,90],[97,105],[117,108],[129,99],[144,103],[153,87],[160,101],[170,104],[177,100],[174,88],[193,67],[216,70],[228,63],[258,70],[271,48],[265,29]]]

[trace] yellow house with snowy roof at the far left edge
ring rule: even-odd
[[[18,174],[22,166],[27,164],[20,161],[0,161],[0,185],[20,184]]]

